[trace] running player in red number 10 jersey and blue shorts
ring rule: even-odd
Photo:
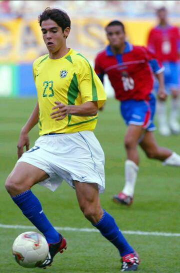
[[[180,156],[159,147],[152,132],[155,128],[152,71],[159,82],[157,95],[164,99],[163,68],[145,47],[133,46],[125,41],[121,22],[110,22],[105,31],[109,45],[96,56],[95,72],[102,82],[104,74],[108,75],[115,97],[120,101],[121,115],[127,124],[124,138],[127,155],[125,185],[119,194],[113,196],[113,201],[130,205],[138,172],[138,144],[148,158],[160,160],[163,165],[180,166]]]

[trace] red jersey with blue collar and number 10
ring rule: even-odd
[[[110,46],[95,58],[95,72],[103,82],[107,74],[118,100],[148,100],[153,86],[153,72],[163,71],[153,53],[145,47],[125,42],[123,54],[113,55]]]

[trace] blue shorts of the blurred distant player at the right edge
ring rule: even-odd
[[[179,88],[179,76],[178,76],[178,63],[177,62],[162,62],[164,67],[164,83],[166,91],[169,91],[171,88]],[[158,82],[155,80],[154,89],[157,91]]]

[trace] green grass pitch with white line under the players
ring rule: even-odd
[[[4,181],[16,162],[19,130],[35,105],[35,99],[0,98],[0,224],[31,225],[11,201],[4,189]],[[180,168],[163,167],[160,162],[147,159],[142,151],[136,183],[134,203],[130,207],[111,201],[124,183],[123,136],[125,125],[118,111],[118,102],[108,99],[99,113],[95,135],[105,153],[106,190],[101,204],[116,220],[122,231],[158,231],[180,233]],[[38,137],[35,127],[30,132],[30,144]],[[180,135],[155,137],[161,146],[180,154]],[[70,155],[69,155],[70,157]],[[92,228],[80,212],[75,192],[62,183],[54,193],[34,186],[43,210],[55,226]],[[30,229],[29,229],[30,230]],[[40,272],[41,269],[20,267],[11,255],[15,237],[28,229],[0,227],[0,273]],[[63,231],[67,250],[57,254],[51,273],[110,273],[119,272],[117,250],[97,232]],[[180,237],[125,234],[141,258],[138,272],[179,273]],[[43,271],[43,270],[42,270]]]

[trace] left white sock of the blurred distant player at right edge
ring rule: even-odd
[[[157,99],[156,117],[159,127],[167,126],[166,102]]]

